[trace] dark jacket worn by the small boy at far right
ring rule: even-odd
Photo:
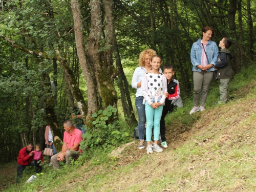
[[[230,60],[233,58],[228,49],[222,49],[219,52],[217,64],[214,66],[217,70],[218,79],[228,79],[233,77],[233,71]]]

